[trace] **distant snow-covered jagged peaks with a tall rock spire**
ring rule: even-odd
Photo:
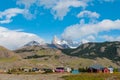
[[[41,44],[37,41],[30,41],[24,46],[40,46],[43,48],[59,48],[59,49],[67,49],[67,48],[77,48],[81,43],[80,42],[73,42],[72,40],[64,40],[58,39],[57,36],[54,36],[51,43],[44,43]]]

